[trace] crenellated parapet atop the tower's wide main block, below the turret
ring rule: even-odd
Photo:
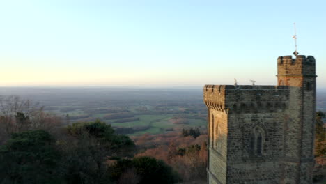
[[[204,102],[210,109],[230,114],[284,111],[288,86],[205,85]]]

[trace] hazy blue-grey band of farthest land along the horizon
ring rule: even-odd
[[[195,101],[203,103],[202,87],[131,87],[131,86],[79,86],[79,87],[0,87],[0,97],[18,95],[22,99],[40,102],[42,105],[53,106],[71,105],[83,103],[88,105],[93,102],[138,102],[139,104],[149,101],[171,101],[185,100],[184,102]],[[104,105],[105,106],[105,105]],[[317,109],[326,110],[326,88],[318,88],[316,95]]]

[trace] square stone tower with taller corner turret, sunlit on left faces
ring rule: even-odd
[[[278,86],[205,85],[208,183],[312,183],[315,59],[277,66]]]

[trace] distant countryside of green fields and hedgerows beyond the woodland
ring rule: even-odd
[[[201,89],[1,88],[39,102],[65,124],[101,121],[130,136],[162,134],[196,127],[206,131]]]

